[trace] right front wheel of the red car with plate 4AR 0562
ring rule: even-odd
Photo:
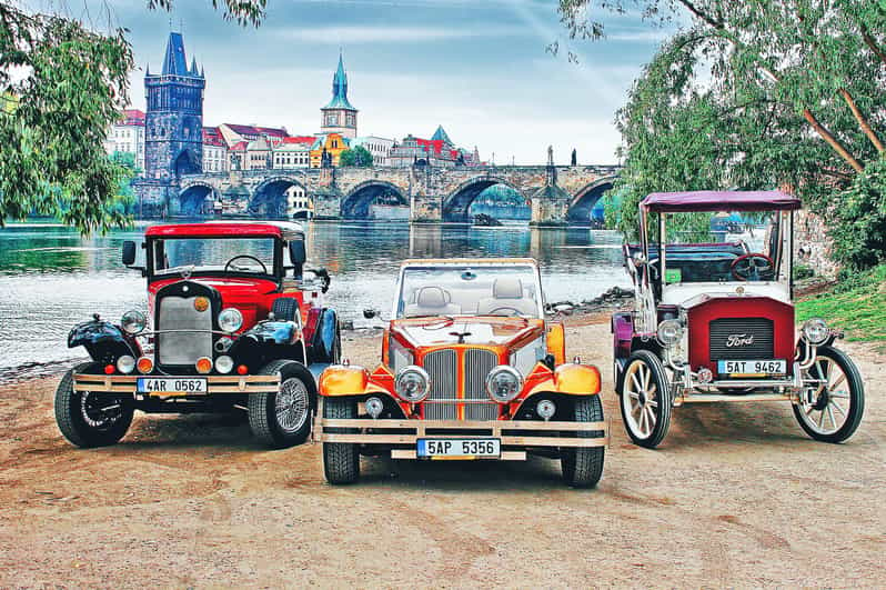
[[[250,394],[248,413],[249,426],[255,438],[274,449],[284,449],[301,444],[311,434],[316,386],[311,371],[300,362],[275,360],[259,371],[259,374],[278,373],[280,389]]]

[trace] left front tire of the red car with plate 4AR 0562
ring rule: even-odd
[[[74,373],[91,373],[98,369],[99,364],[93,362],[78,364],[64,373],[56,389],[56,423],[64,438],[81,449],[108,447],[119,442],[129,430],[135,411],[131,398],[74,391]],[[107,410],[93,407],[95,401],[100,401],[102,406],[114,402],[119,408],[114,408],[110,412],[112,416],[108,416]],[[102,417],[108,420],[107,423],[98,423]],[[89,423],[88,420],[97,423]]]

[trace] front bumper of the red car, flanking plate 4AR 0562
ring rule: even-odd
[[[205,397],[217,393],[265,393],[280,390],[279,374],[85,374],[74,373],[74,391],[131,393],[144,398]],[[205,379],[205,393],[139,393],[135,381],[139,377],[163,377],[169,379]]]

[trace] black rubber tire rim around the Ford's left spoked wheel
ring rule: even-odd
[[[636,372],[647,372],[650,390],[654,386],[654,397],[643,394],[642,398],[635,397],[634,381],[632,376]],[[640,378],[642,379],[642,377]],[[631,380],[631,382],[628,382]],[[641,384],[641,387],[645,387]],[[632,406],[632,400],[636,400],[640,406],[638,418],[633,417],[633,412],[628,409]],[[648,404],[646,403],[648,401]],[[625,368],[621,378],[621,386],[618,389],[618,407],[622,410],[622,421],[624,422],[627,436],[635,444],[645,447],[647,449],[656,448],[667,434],[671,428],[671,406],[672,406],[671,387],[667,380],[667,373],[662,364],[662,361],[654,353],[648,350],[637,350],[627,359]],[[646,412],[646,408],[648,412]],[[644,429],[641,420],[645,420],[648,427],[648,421],[654,418],[655,424],[652,428]]]

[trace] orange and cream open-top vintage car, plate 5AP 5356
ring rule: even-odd
[[[360,477],[360,456],[560,459],[563,479],[593,487],[607,428],[600,371],[566,362],[563,326],[546,322],[533,259],[407,260],[400,269],[382,362],[320,377],[330,483]]]

